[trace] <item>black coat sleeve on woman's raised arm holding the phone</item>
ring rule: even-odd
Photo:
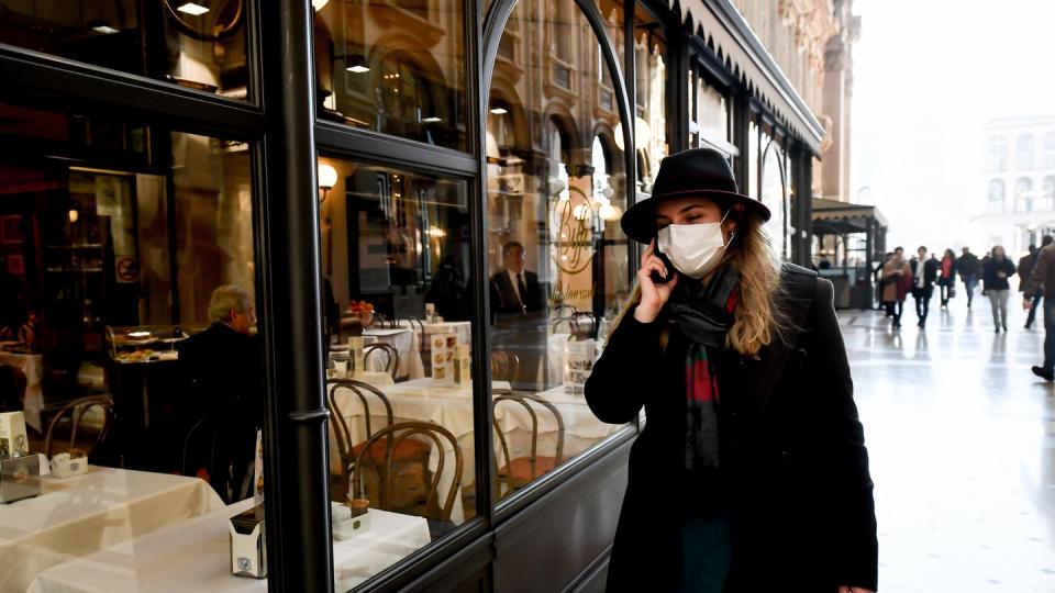
[[[651,369],[658,368],[663,354],[662,326],[659,320],[638,322],[630,310],[609,338],[584,388],[590,410],[602,422],[625,424],[637,417],[645,395],[656,385]]]

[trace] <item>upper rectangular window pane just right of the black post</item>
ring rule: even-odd
[[[320,119],[468,149],[463,2],[315,4]]]

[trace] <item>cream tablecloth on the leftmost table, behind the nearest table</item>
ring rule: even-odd
[[[23,593],[42,570],[215,508],[202,480],[90,467],[42,478],[44,493],[0,505],[0,592]]]

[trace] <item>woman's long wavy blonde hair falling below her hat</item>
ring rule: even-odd
[[[733,325],[725,335],[725,345],[744,356],[758,356],[763,347],[780,339],[789,322],[777,305],[780,298],[780,259],[769,236],[762,230],[762,220],[734,209],[729,217],[736,223],[736,235],[725,249],[721,265],[731,264],[740,272],[740,302],[733,312]],[[630,302],[609,332],[615,332],[623,318],[641,303],[641,286],[634,286]],[[664,327],[659,342],[665,349],[669,327]]]

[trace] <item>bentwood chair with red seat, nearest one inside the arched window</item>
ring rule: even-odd
[[[552,403],[533,395],[530,393],[512,393],[508,391],[497,392],[495,399],[495,409],[498,409],[498,404],[501,402],[513,402],[520,404],[528,411],[528,415],[531,417],[531,450],[528,457],[518,457],[515,459],[510,459],[509,455],[509,441],[506,438],[506,434],[502,433],[502,428],[498,423],[498,414],[492,421],[495,425],[495,432],[498,434],[498,439],[501,445],[502,459],[506,462],[504,466],[499,468],[497,479],[499,483],[504,483],[509,486],[509,492],[519,490],[538,477],[545,474],[546,472],[553,470],[553,468],[560,465],[560,461],[564,459],[564,417],[560,415],[560,412]],[[553,456],[541,456],[538,455],[538,414],[535,412],[534,405],[540,405],[546,409],[551,414],[553,414],[554,419],[557,424],[557,443],[554,448]]]

